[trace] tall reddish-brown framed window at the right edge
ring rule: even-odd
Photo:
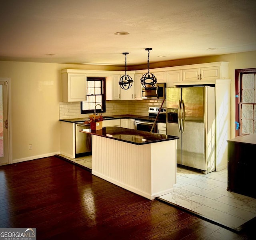
[[[236,136],[256,133],[256,69],[235,70],[235,80]]]

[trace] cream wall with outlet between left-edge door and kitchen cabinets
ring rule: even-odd
[[[86,65],[0,61],[0,76],[11,78],[13,163],[60,152],[60,70],[65,68],[98,69]],[[29,144],[32,150],[28,149]]]

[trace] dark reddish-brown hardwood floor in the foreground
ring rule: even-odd
[[[148,200],[58,157],[0,167],[0,228],[36,228],[37,240],[256,239]]]

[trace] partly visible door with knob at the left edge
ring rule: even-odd
[[[0,78],[0,165],[9,163],[8,155],[8,81]]]

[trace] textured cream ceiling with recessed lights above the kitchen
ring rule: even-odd
[[[150,62],[254,51],[256,1],[1,3],[0,60],[120,66],[128,52],[127,65],[140,65],[147,63],[145,48],[152,48]]]

